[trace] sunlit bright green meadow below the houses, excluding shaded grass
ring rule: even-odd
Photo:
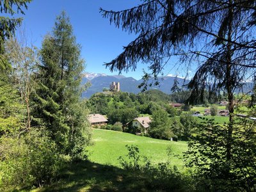
[[[154,163],[166,161],[166,148],[170,146],[176,155],[182,155],[187,149],[184,141],[156,140],[129,134],[125,132],[108,131],[103,129],[93,130],[94,145],[89,147],[89,160],[93,163],[119,166],[118,157],[125,156],[125,145],[138,145],[141,156],[147,156]],[[177,157],[172,158],[172,163],[182,167],[183,162]]]

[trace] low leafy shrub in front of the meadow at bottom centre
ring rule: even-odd
[[[143,175],[147,180],[147,187],[156,191],[193,191],[192,180],[187,179],[170,161],[152,164],[145,156],[140,155],[137,145],[125,145],[128,150],[128,161],[119,157],[120,164],[127,172]],[[172,156],[170,150],[168,156]]]

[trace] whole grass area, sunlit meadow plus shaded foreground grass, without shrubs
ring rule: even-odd
[[[93,130],[93,141],[94,145],[88,148],[90,161],[70,164],[54,184],[32,191],[154,191],[146,177],[120,168],[118,157],[127,154],[125,145],[138,145],[141,156],[151,157],[154,162],[166,161],[168,146],[175,155],[187,149],[186,142],[155,140],[103,129]],[[171,162],[182,172],[181,159],[173,156]]]

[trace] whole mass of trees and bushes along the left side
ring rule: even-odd
[[[1,47],[0,189],[7,191],[56,180],[68,163],[86,159],[91,135],[81,100],[84,61],[66,13],[42,49],[25,37]]]

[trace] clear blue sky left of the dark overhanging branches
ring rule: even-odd
[[[122,47],[129,44],[135,36],[109,25],[109,20],[100,15],[99,8],[118,11],[138,4],[139,0],[34,0],[28,4],[26,15],[22,15],[22,29],[40,47],[44,36],[52,31],[56,16],[65,10],[70,17],[77,43],[82,46],[81,57],[86,61],[85,72],[115,75],[118,72],[111,74],[103,65],[104,62],[118,56]],[[122,72],[122,75],[141,79],[143,68],[147,70],[147,65],[138,63],[135,72]],[[164,70],[165,75],[174,73],[170,67]]]

